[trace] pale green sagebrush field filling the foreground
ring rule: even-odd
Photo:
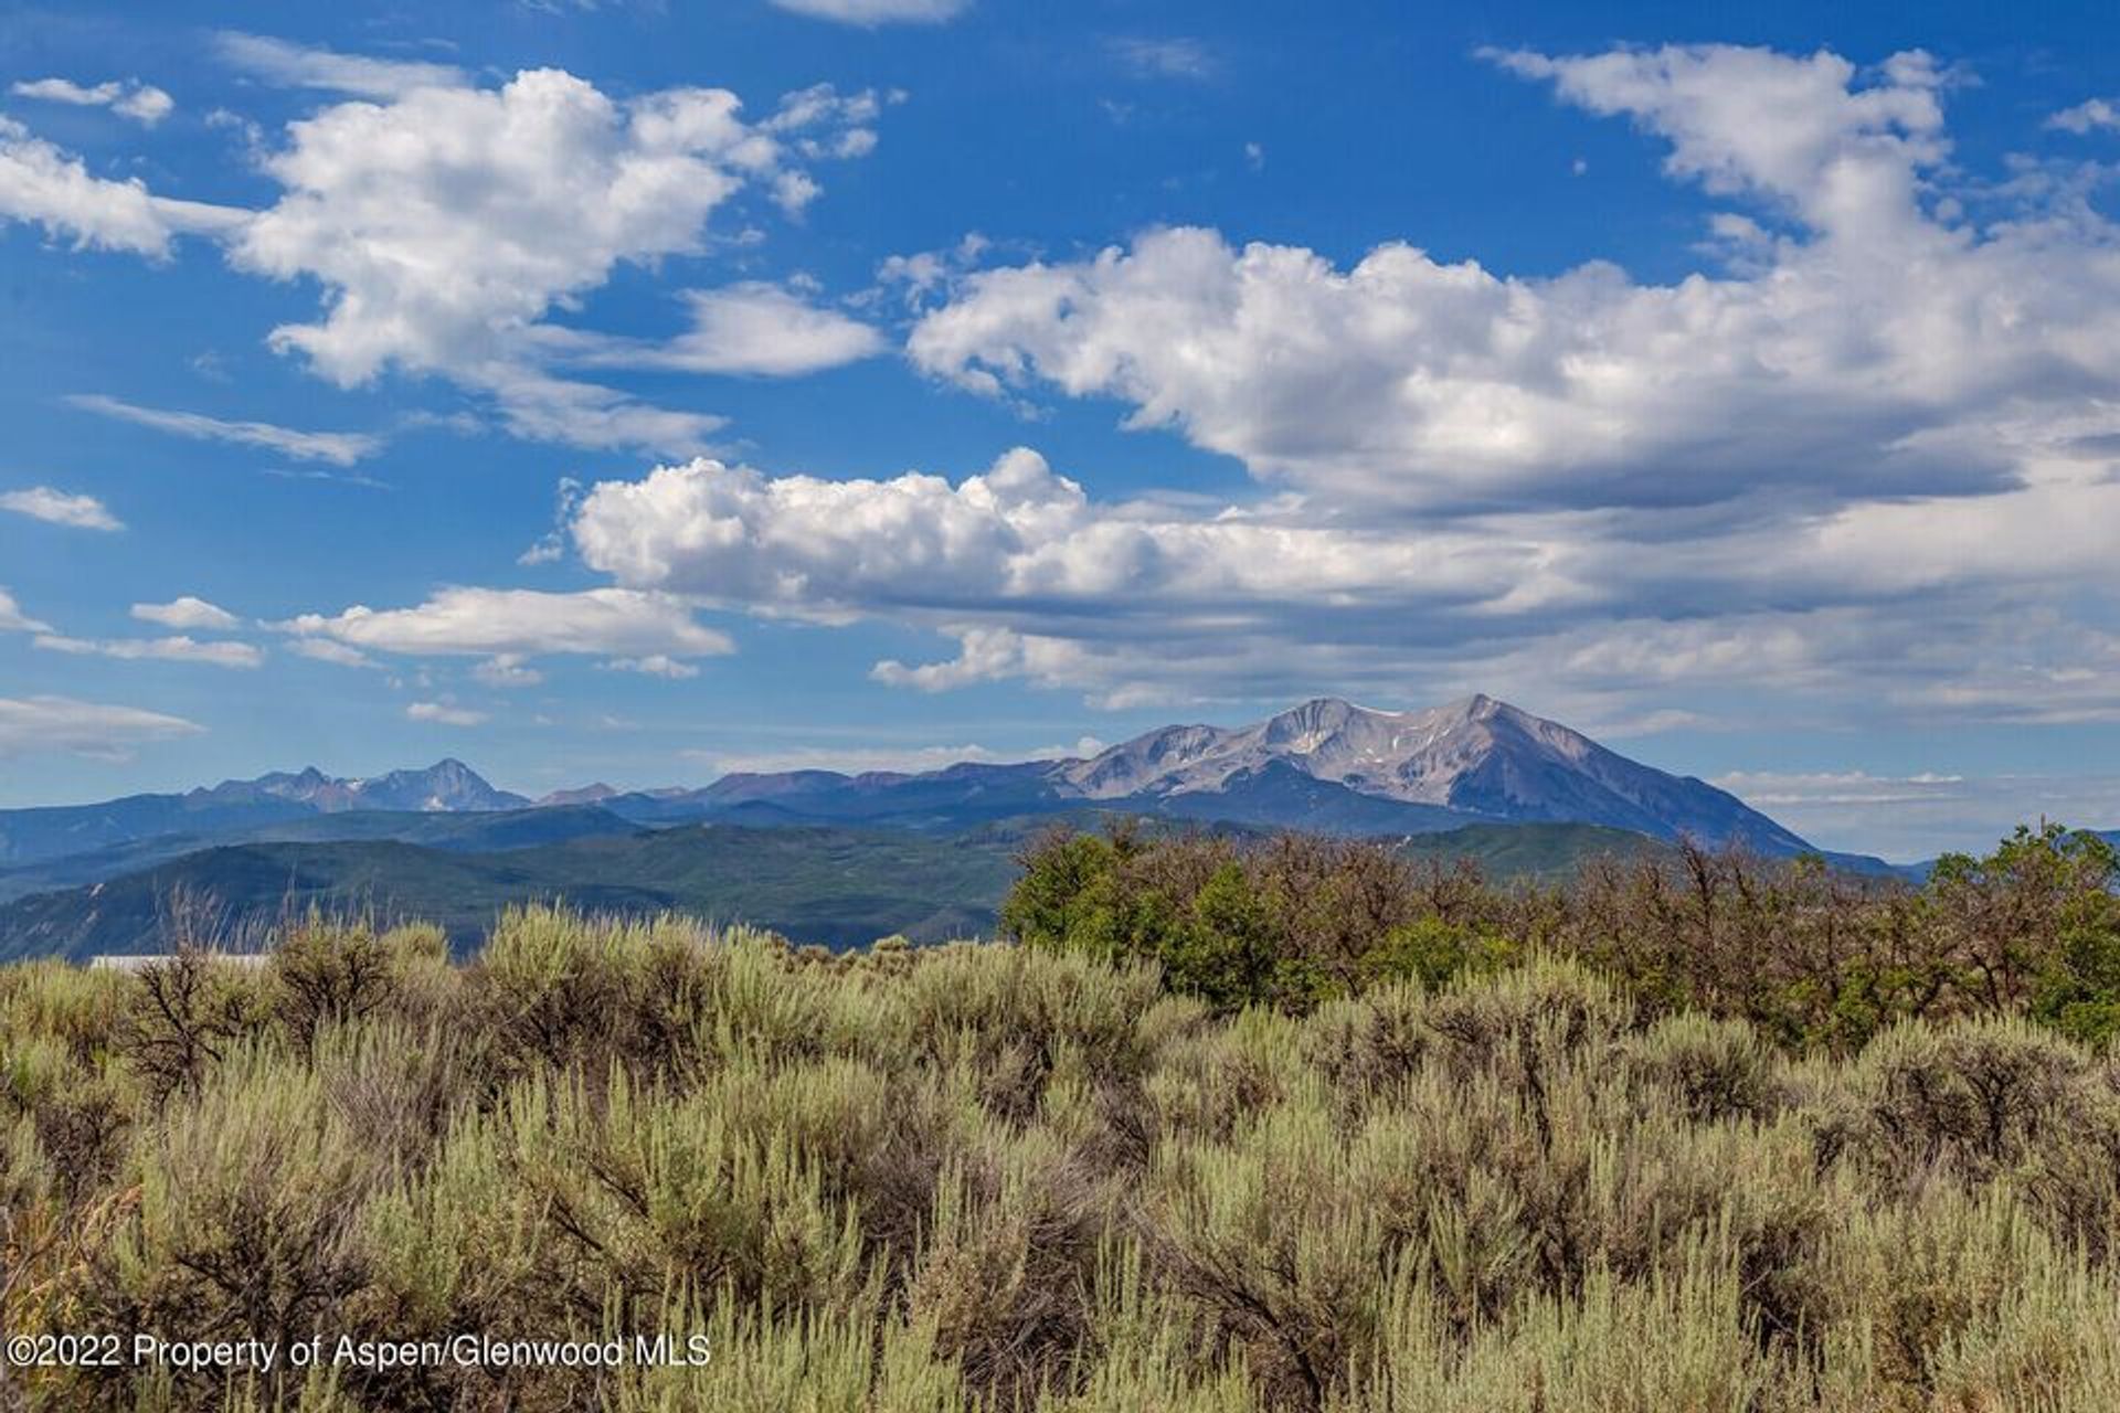
[[[1974,979],[1806,1042],[1543,945],[1244,1004],[1100,936],[835,958],[530,909],[466,966],[316,922],[261,966],[0,968],[8,1332],[714,1349],[0,1402],[2112,1407],[2120,1059]]]

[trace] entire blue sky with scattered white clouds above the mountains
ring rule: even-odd
[[[140,8],[0,15],[0,805],[1488,691],[2120,824],[2097,6]]]

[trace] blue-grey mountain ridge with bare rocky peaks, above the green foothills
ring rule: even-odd
[[[1651,839],[1690,835],[1777,856],[1810,849],[1726,790],[1628,761],[1492,697],[1431,712],[1378,712],[1321,697],[1249,727],[1162,727],[1085,761],[965,763],[922,773],[738,773],[697,790],[621,792],[594,784],[534,805],[602,805],[640,824],[863,822],[929,830],[1094,805],[1344,835],[1545,822],[1603,824]],[[371,780],[310,767],[187,794],[6,809],[0,866],[316,813],[524,807],[532,801],[496,790],[462,761]]]

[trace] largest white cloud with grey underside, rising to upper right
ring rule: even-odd
[[[1668,506],[1999,489],[2035,407],[2116,390],[2105,235],[1948,225],[1940,81],[1902,57],[1738,49],[1507,55],[1671,142],[1666,167],[1800,231],[1751,275],[1637,284],[1439,263],[1350,269],[1172,229],[1092,261],[971,275],[920,322],[920,366],[979,390],[1117,396],[1261,479],[1340,502]]]

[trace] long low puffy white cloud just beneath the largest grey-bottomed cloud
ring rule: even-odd
[[[820,619],[1011,602],[1081,612],[1119,595],[1172,616],[1247,600],[1353,608],[1416,574],[1393,602],[1446,604],[1541,578],[1529,544],[1096,504],[1028,447],[956,485],[767,477],[702,458],[589,487],[572,536],[583,561],[628,587]]]

